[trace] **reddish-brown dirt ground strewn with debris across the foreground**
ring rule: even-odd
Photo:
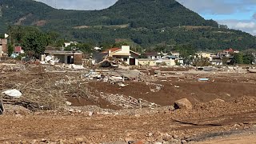
[[[152,69],[146,80],[122,87],[86,79],[88,70],[0,67],[0,90],[22,91],[20,99],[2,94],[0,143],[255,142],[256,74],[246,70],[162,68],[166,74],[159,75]],[[174,110],[182,98],[192,110]]]

